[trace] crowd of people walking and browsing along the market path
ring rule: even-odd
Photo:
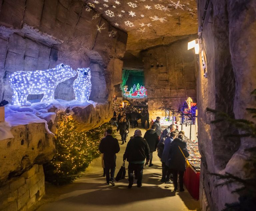
[[[131,114],[130,117],[128,113]],[[136,127],[136,118],[138,119],[138,113],[134,110],[129,112],[127,110],[119,113],[117,117],[117,130],[120,132],[122,144],[126,142],[127,134],[130,129],[130,122],[132,127]],[[140,114],[148,113],[147,110]],[[161,182],[166,184],[174,184],[174,190],[184,191],[183,188],[183,176],[186,170],[186,158],[189,156],[187,149],[187,143],[184,141],[184,131],[176,131],[176,126],[171,124],[161,132],[160,117],[156,118],[150,129],[146,131],[144,137],[140,129],[136,129],[133,136],[127,143],[125,152],[123,154],[123,161],[127,160],[128,165],[128,188],[131,188],[135,179],[137,179],[137,187],[142,186],[142,175],[144,165],[150,167],[152,163],[153,152],[157,150],[157,155],[162,162],[162,178]],[[145,126],[141,124],[141,126]],[[149,126],[149,123],[148,123]],[[106,173],[107,184],[115,185],[114,173],[116,167],[116,153],[120,151],[118,140],[112,135],[112,130],[105,131],[105,135],[102,138],[99,146],[99,150],[103,153],[103,163]],[[145,162],[146,159],[146,162]],[[179,176],[179,179],[178,179]],[[171,177],[172,180],[171,181]]]

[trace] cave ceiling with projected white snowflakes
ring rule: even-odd
[[[85,0],[85,2],[102,14],[113,26],[128,33],[128,50],[134,48],[142,50],[150,45],[154,46],[166,37],[197,33],[196,0]],[[95,18],[98,15],[96,14]],[[104,25],[99,24],[97,27],[100,31]],[[136,45],[138,43],[144,44],[138,46]]]

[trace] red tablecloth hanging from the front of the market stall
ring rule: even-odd
[[[199,199],[199,179],[200,172],[195,172],[192,167],[187,167],[184,173],[184,184],[190,195],[196,200]]]

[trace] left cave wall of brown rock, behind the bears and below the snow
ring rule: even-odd
[[[111,26],[80,0],[0,1],[0,101],[11,102],[13,92],[8,77],[13,72],[49,69],[60,63],[74,70],[90,67],[90,100],[98,104],[75,107],[72,113],[81,125],[78,130],[98,127],[113,115],[112,96],[114,85],[122,82],[121,59],[126,41],[125,32]],[[74,99],[75,78],[57,86],[55,99]],[[28,97],[41,98],[42,95]],[[52,108],[50,112],[58,110]],[[48,122],[53,134],[56,119]],[[24,174],[52,159],[54,135],[46,131],[44,123],[14,126],[11,132],[14,138],[0,142],[0,210],[27,210],[44,194],[44,175],[40,167],[42,174],[34,172],[32,184]]]

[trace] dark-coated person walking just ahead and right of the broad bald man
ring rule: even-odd
[[[147,141],[149,145],[149,149],[150,149],[149,166],[152,166],[153,152],[156,151],[156,146],[158,144],[158,135],[156,134],[156,125],[152,125],[151,129],[146,131],[143,138]],[[148,165],[148,162],[146,162],[145,165]]]

